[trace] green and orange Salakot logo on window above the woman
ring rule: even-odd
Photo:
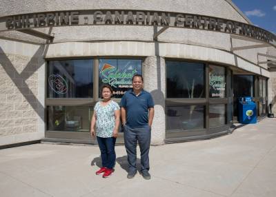
[[[111,87],[132,87],[132,76],[137,73],[134,69],[131,72],[128,70],[119,70],[108,63],[103,65],[101,69],[101,81],[108,83]]]

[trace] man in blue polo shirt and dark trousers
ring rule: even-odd
[[[141,151],[141,174],[150,179],[148,170],[150,163],[148,152],[150,150],[150,132],[154,111],[154,103],[150,93],[143,90],[143,76],[135,74],[132,77],[132,90],[121,98],[121,121],[124,127],[124,141],[128,154],[128,178],[137,173],[137,141]]]

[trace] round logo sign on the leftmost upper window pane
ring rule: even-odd
[[[68,92],[68,84],[59,74],[52,74],[48,77],[48,84],[57,94],[66,94]]]

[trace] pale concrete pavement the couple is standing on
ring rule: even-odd
[[[0,196],[276,196],[276,118],[206,141],[150,147],[151,180],[126,178],[126,150],[115,149],[110,178],[95,175],[96,145],[1,149]]]

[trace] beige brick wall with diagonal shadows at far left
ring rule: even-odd
[[[38,132],[40,118],[38,50],[39,45],[0,40],[0,145],[38,139],[30,135]]]

